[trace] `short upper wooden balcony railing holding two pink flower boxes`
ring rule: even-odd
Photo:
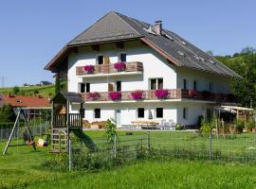
[[[101,74],[119,74],[119,73],[133,73],[133,72],[143,72],[143,63],[139,61],[126,62],[126,69],[119,72],[114,67],[114,64],[101,64],[94,65],[94,71],[91,73],[87,73],[83,70],[83,66],[76,67],[77,76],[94,76]]]

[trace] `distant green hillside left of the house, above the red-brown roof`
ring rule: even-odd
[[[30,87],[20,87],[21,94],[30,95],[34,94],[34,91],[38,90],[39,94],[48,96],[49,93],[54,94],[55,87],[54,85],[48,86],[30,86]],[[0,88],[0,93],[8,94],[12,93],[13,88]]]

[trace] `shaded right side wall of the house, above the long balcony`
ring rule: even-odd
[[[187,89],[193,88],[193,80],[197,81],[197,91],[210,91],[210,82],[212,83],[213,93],[229,94],[230,77],[224,77],[207,72],[199,72],[188,68],[177,69],[177,88],[183,88],[183,79],[187,79]]]

